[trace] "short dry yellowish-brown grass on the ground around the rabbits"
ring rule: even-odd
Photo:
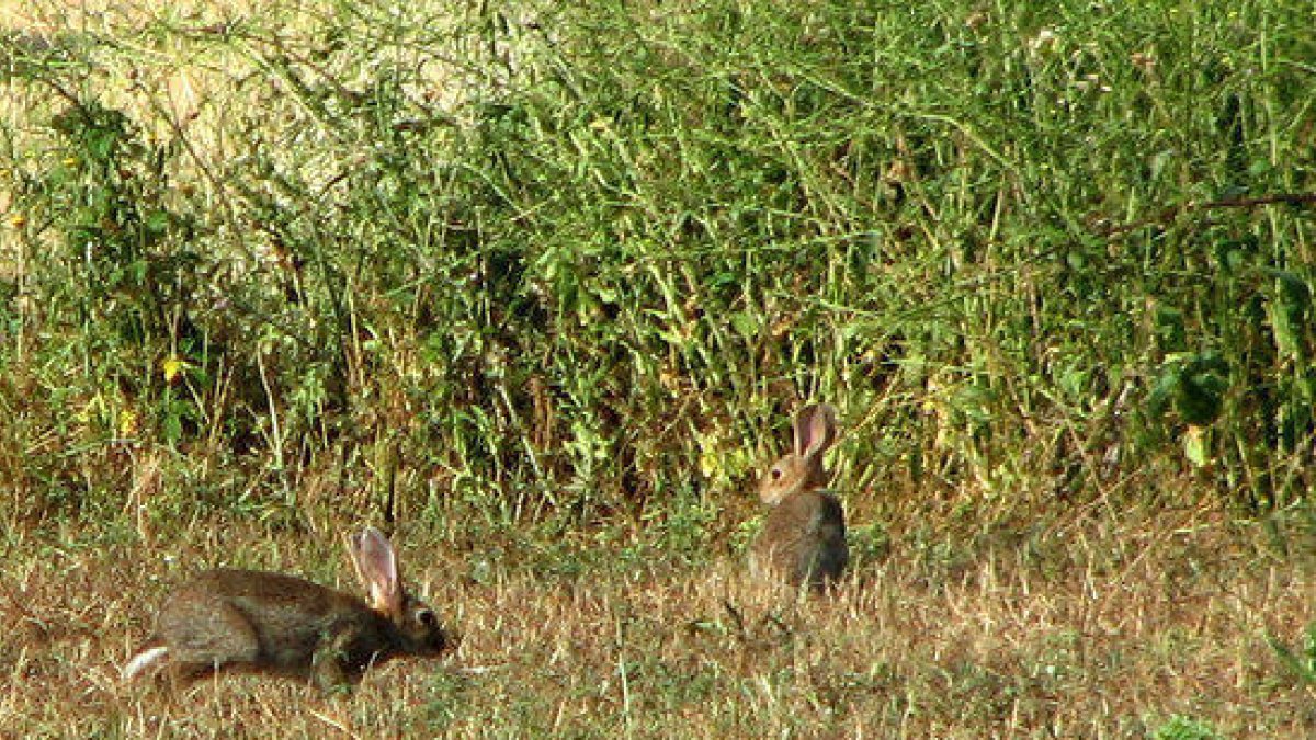
[[[240,558],[346,578],[330,537],[197,523],[138,549],[100,529],[18,532],[4,561],[16,628],[0,724],[16,736],[1123,737],[1182,715],[1240,736],[1316,729],[1311,687],[1266,641],[1294,644],[1309,620],[1312,561],[1275,550],[1309,536],[1300,523],[1266,535],[1212,510],[1138,508],[973,536],[950,535],[937,507],[903,516],[886,557],[861,562],[836,598],[803,602],[730,558],[692,570],[605,557],[554,575],[533,558],[490,564],[503,542],[404,535],[462,644],[375,672],[350,699],[249,677],[174,700],[117,682],[183,571]]]

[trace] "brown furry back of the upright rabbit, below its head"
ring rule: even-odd
[[[755,557],[790,582],[822,587],[845,570],[845,514],[829,491],[800,491],[767,515]]]

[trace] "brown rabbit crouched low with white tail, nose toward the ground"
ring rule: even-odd
[[[257,570],[208,570],[164,602],[155,636],[124,666],[130,681],[166,669],[187,683],[221,669],[350,687],[396,656],[447,645],[434,611],[403,589],[397,557],[378,529],[349,542],[370,603],[311,581]]]

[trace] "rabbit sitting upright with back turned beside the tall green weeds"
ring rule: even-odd
[[[825,490],[822,453],[836,440],[836,408],[811,404],[795,416],[795,449],[778,460],[758,483],[771,507],[750,552],[755,571],[772,571],[792,585],[822,589],[840,578],[850,553],[845,514]]]

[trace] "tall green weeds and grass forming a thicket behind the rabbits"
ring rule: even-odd
[[[1309,485],[1304,3],[321,5],[5,38],[8,506]]]

